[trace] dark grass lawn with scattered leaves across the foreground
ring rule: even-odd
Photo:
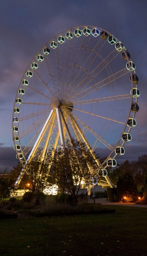
[[[112,214],[0,220],[7,256],[146,256],[147,208],[107,206]]]

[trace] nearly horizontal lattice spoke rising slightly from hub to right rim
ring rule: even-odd
[[[105,102],[105,101],[111,101],[111,100],[123,100],[128,98],[131,98],[131,94],[122,94],[122,95],[115,95],[115,96],[109,96],[109,97],[103,97],[103,98],[97,98],[97,99],[72,101],[72,103],[76,105],[83,105],[83,104],[91,104],[91,103]],[[70,104],[71,103],[67,103],[67,105],[70,105]]]

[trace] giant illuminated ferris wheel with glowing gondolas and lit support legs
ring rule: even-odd
[[[116,166],[115,157],[131,140],[137,83],[135,64],[113,34],[92,26],[59,33],[35,55],[18,86],[12,119],[16,157],[49,162],[67,139],[76,138],[96,161],[98,176],[105,178],[101,185],[113,187],[106,168]],[[100,164],[93,152],[106,149]]]

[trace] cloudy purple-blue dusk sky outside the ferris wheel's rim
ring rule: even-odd
[[[147,154],[147,1],[1,0],[0,7],[0,168],[16,166],[12,114],[15,96],[35,54],[55,35],[91,25],[114,34],[128,49],[139,77],[139,111],[132,140],[121,160]],[[107,152],[101,150],[101,154]]]

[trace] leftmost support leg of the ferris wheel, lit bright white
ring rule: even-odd
[[[43,126],[43,128],[42,128],[42,130],[41,130],[41,133],[39,134],[39,137],[38,137],[38,139],[36,140],[35,145],[33,146],[32,151],[31,151],[30,155],[28,156],[28,159],[27,159],[27,161],[25,162],[25,165],[24,165],[23,169],[21,170],[20,175],[19,175],[18,178],[17,178],[17,181],[15,182],[15,186],[18,186],[18,185],[20,184],[20,181],[21,181],[21,179],[22,179],[22,177],[23,177],[23,175],[24,175],[24,173],[25,173],[25,171],[26,171],[26,170],[25,170],[25,167],[26,167],[26,165],[27,165],[27,162],[29,161],[30,157],[34,156],[34,154],[35,154],[35,152],[36,152],[36,149],[37,149],[37,147],[38,147],[38,145],[39,145],[39,143],[40,143],[40,141],[41,141],[41,139],[42,139],[42,137],[43,137],[43,135],[44,135],[44,133],[45,133],[45,130],[46,130],[47,127],[48,127],[49,120],[53,117],[53,116],[52,116],[52,115],[53,115],[53,112],[55,112],[55,111],[52,110],[52,111],[50,112],[50,114],[49,114],[49,116],[48,116],[48,118],[47,118],[47,120],[46,120],[46,122],[45,122],[45,124],[44,124],[44,126]]]

